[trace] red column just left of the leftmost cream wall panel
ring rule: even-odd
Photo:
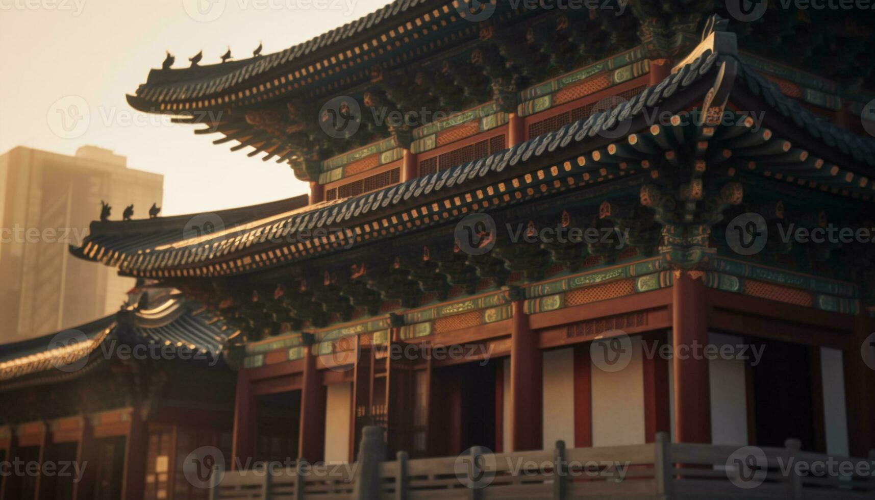
[[[301,423],[298,427],[297,456],[310,463],[325,456],[325,385],[316,370],[312,346],[304,348],[304,388],[301,391]]]

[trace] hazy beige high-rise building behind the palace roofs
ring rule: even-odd
[[[0,343],[80,325],[115,311],[134,285],[67,252],[99,218],[135,218],[162,204],[164,176],[127,167],[95,146],[66,156],[23,146],[0,155]]]

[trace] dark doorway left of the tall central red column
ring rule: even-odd
[[[472,446],[495,449],[495,379],[498,363],[436,368],[431,383],[433,453],[460,454]]]

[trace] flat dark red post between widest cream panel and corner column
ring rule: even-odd
[[[644,440],[656,441],[656,433],[671,435],[669,412],[669,360],[659,356],[660,346],[665,342],[664,335],[645,335],[644,342],[652,344],[645,349],[642,358],[644,374]],[[654,356],[647,356],[648,352]]]

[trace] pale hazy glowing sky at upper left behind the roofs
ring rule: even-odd
[[[236,142],[212,144],[221,135],[195,136],[192,126],[139,113],[125,95],[161,66],[165,49],[176,56],[174,67],[187,67],[201,49],[202,64],[218,62],[228,46],[241,59],[251,56],[259,41],[272,53],[388,3],[0,0],[0,153],[16,145],[65,154],[83,144],[114,150],[131,168],[165,175],[163,215],[307,193],[288,165],[248,158],[251,148],[228,151]],[[88,127],[67,133],[58,109],[82,100]]]

